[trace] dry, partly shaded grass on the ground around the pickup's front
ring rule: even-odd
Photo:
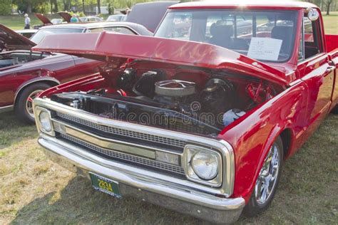
[[[338,115],[329,115],[285,162],[270,208],[237,224],[337,224]],[[0,115],[0,224],[205,224],[190,216],[91,188],[46,159],[34,126]]]

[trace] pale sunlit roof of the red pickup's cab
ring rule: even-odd
[[[318,6],[305,1],[192,1],[175,4],[168,9],[234,9],[234,8],[255,8],[255,9],[304,9],[318,8]]]

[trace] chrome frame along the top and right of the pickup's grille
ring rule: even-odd
[[[232,147],[229,143],[225,142],[225,140],[216,140],[208,137],[197,136],[185,134],[183,132],[176,132],[172,130],[165,130],[157,127],[148,127],[145,125],[133,124],[130,122],[123,122],[120,120],[111,120],[103,117],[98,117],[97,115],[93,115],[90,112],[85,112],[83,110],[78,110],[76,108],[71,108],[70,106],[63,105],[61,103],[53,102],[49,99],[36,98],[34,99],[34,107],[36,106],[48,108],[51,110],[55,110],[58,112],[63,112],[66,114],[76,115],[76,117],[80,117],[83,120],[88,120],[91,122],[95,122],[98,125],[105,125],[111,127],[118,127],[124,130],[131,130],[135,132],[144,132],[150,135],[160,135],[168,138],[175,138],[177,140],[183,140],[185,142],[193,143],[195,145],[201,145],[203,147],[208,147],[219,151],[223,158],[223,177],[222,177],[222,187],[219,189],[215,189],[212,187],[201,186],[201,184],[195,184],[193,182],[183,181],[182,179],[176,179],[178,184],[184,184],[188,187],[194,187],[196,189],[204,189],[205,192],[215,193],[215,194],[224,194],[225,197],[229,197],[233,192],[234,180],[235,180],[235,157],[233,154]],[[81,152],[81,154],[85,154]],[[88,155],[88,157],[94,157],[93,155]],[[102,159],[98,158],[96,161],[100,162]],[[110,164],[112,162],[107,162],[104,160],[106,164]],[[133,167],[130,167],[131,171],[133,171]],[[160,174],[153,173],[152,176],[160,176]],[[173,177],[162,177],[163,180],[169,179],[170,181],[174,181]]]

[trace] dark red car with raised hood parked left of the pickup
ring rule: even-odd
[[[153,35],[147,28],[135,23],[60,24],[41,27],[29,40],[0,24],[0,112],[14,110],[20,120],[33,123],[32,100],[38,93],[51,86],[96,73],[98,66],[104,64],[48,51],[30,51],[44,36],[101,31]]]

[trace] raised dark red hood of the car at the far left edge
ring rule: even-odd
[[[0,52],[30,50],[36,43],[0,24]]]

